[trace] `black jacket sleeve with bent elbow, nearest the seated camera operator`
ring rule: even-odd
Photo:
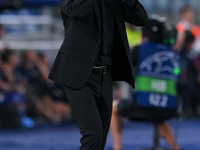
[[[135,26],[142,26],[147,23],[147,12],[138,0],[124,0],[122,9],[126,22]]]

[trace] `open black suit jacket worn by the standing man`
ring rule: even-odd
[[[148,16],[137,0],[110,0],[109,13],[115,21],[113,81],[134,87],[125,22],[144,25]],[[56,56],[49,79],[79,89],[89,79],[100,45],[100,12],[96,0],[62,0],[65,39]]]

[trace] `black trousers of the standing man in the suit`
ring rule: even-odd
[[[111,72],[92,73],[83,88],[64,90],[82,135],[80,150],[103,150],[112,114]]]

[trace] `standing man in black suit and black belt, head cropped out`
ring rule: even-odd
[[[141,26],[148,16],[138,0],[62,0],[61,15],[65,39],[49,78],[63,84],[82,134],[80,149],[103,150],[112,81],[134,87],[125,21]]]

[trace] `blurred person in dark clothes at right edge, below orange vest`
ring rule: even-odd
[[[200,103],[200,88],[198,82],[198,69],[195,69],[193,58],[190,57],[192,45],[195,36],[191,31],[185,31],[185,39],[180,50],[181,73],[177,84],[179,96],[183,102],[184,117],[198,116],[198,107]],[[198,58],[196,58],[196,61]],[[196,66],[196,68],[198,68]]]

